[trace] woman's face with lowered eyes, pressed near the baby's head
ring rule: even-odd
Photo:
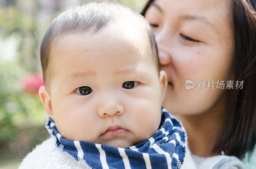
[[[233,80],[230,6],[229,0],[156,0],[148,8],[145,17],[168,76],[163,107],[172,114],[206,112],[228,90],[216,87],[218,80]],[[194,88],[187,90],[186,80],[193,81]],[[205,88],[197,89],[199,80],[206,81]],[[213,89],[211,84],[207,89],[212,80]]]

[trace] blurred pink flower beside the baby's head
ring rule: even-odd
[[[22,90],[30,94],[37,94],[39,87],[44,86],[44,79],[42,75],[29,74],[25,76],[22,80]]]

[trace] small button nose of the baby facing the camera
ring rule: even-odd
[[[121,115],[124,113],[123,105],[119,104],[114,96],[105,97],[105,99],[102,100],[101,103],[102,104],[100,105],[98,110],[98,114],[100,117]]]

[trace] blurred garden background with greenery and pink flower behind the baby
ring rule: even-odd
[[[17,168],[50,137],[38,97],[44,85],[39,48],[47,27],[80,0],[0,0],[0,169]],[[117,0],[140,12],[146,0]]]

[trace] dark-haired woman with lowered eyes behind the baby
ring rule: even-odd
[[[141,13],[168,76],[163,107],[183,123],[195,157],[256,163],[246,154],[256,143],[255,8],[255,0],[149,0]]]

